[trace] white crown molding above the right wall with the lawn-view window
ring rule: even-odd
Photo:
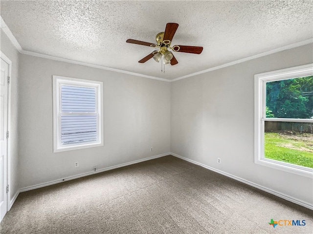
[[[307,44],[311,44],[311,43],[313,43],[313,39],[303,40],[303,41],[296,42],[296,43],[293,43],[293,44],[290,44],[290,45],[279,47],[277,49],[269,50],[269,51],[263,52],[261,54],[249,56],[249,57],[246,57],[244,59],[238,59],[238,60],[235,60],[235,61],[232,61],[232,62],[227,62],[227,63],[225,63],[223,65],[220,65],[220,66],[212,67],[212,68],[200,71],[200,72],[195,72],[195,73],[192,73],[192,74],[189,74],[189,75],[186,75],[186,76],[182,76],[182,77],[179,77],[179,78],[171,79],[171,82],[177,81],[179,79],[188,78],[188,77],[194,77],[194,76],[202,74],[202,73],[211,72],[211,71],[218,70],[218,69],[221,69],[221,68],[224,68],[224,67],[229,67],[229,66],[241,63],[241,62],[246,62],[248,60],[257,59],[257,58],[260,58],[260,57],[263,57],[263,56],[271,55],[271,54],[274,54],[274,53],[277,53],[277,52],[281,52],[281,51],[284,51],[284,50],[289,50],[289,49],[292,49],[292,48],[295,48],[295,47],[299,47],[299,46],[307,45]]]

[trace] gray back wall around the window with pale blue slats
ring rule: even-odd
[[[21,188],[170,152],[170,82],[23,54],[20,74]],[[52,75],[103,81],[104,146],[53,153]]]

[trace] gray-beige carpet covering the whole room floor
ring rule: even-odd
[[[305,219],[276,226],[270,219]],[[313,233],[313,211],[165,156],[21,193],[1,234]]]

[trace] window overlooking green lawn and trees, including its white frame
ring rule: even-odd
[[[313,64],[255,75],[254,161],[313,176]]]

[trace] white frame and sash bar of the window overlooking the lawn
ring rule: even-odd
[[[270,121],[313,122],[313,119],[266,118],[266,82],[313,75],[313,64],[307,64],[254,76],[254,162],[277,170],[313,178],[313,169],[264,157],[264,123]],[[262,96],[262,97],[261,97]]]

